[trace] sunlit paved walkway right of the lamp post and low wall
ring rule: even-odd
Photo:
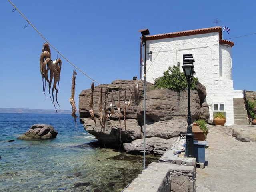
[[[204,169],[196,168],[196,192],[256,192],[256,143],[210,129]]]

